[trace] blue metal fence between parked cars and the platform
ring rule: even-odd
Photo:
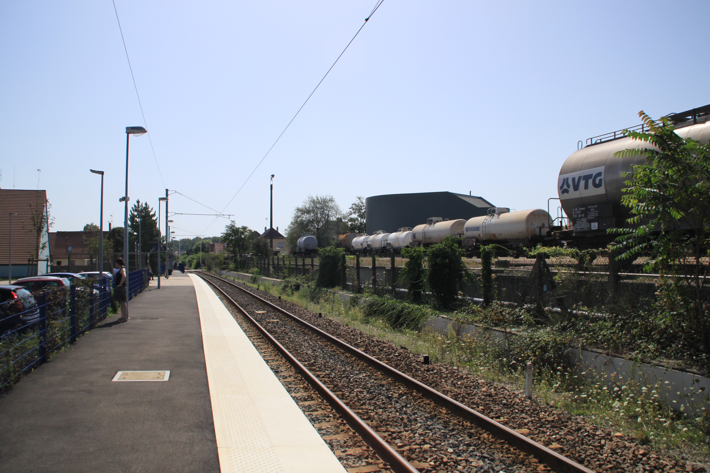
[[[147,269],[129,273],[129,298],[149,280]],[[0,302],[0,391],[103,321],[113,289],[109,277],[85,279],[68,288],[38,289],[24,306],[21,299]]]

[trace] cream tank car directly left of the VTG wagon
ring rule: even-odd
[[[464,238],[476,238],[476,243],[502,242],[513,246],[530,246],[535,237],[545,237],[552,219],[542,208],[511,212],[509,208],[491,208],[488,215],[469,218],[464,226]]]

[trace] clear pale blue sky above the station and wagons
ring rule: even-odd
[[[0,6],[0,187],[47,189],[53,230],[122,225],[165,188],[222,211],[374,1],[110,0]],[[308,194],[454,191],[545,208],[577,141],[710,103],[707,1],[385,0],[224,210],[263,230]],[[170,209],[212,213],[179,194]],[[1,203],[0,203],[1,206]],[[444,216],[446,217],[446,216]],[[175,216],[180,235],[226,221]],[[413,223],[414,225],[415,223]],[[187,230],[187,231],[184,231]]]

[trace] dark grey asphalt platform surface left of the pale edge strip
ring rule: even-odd
[[[0,396],[0,472],[219,472],[195,288],[155,283]],[[111,382],[132,370],[170,379]]]

